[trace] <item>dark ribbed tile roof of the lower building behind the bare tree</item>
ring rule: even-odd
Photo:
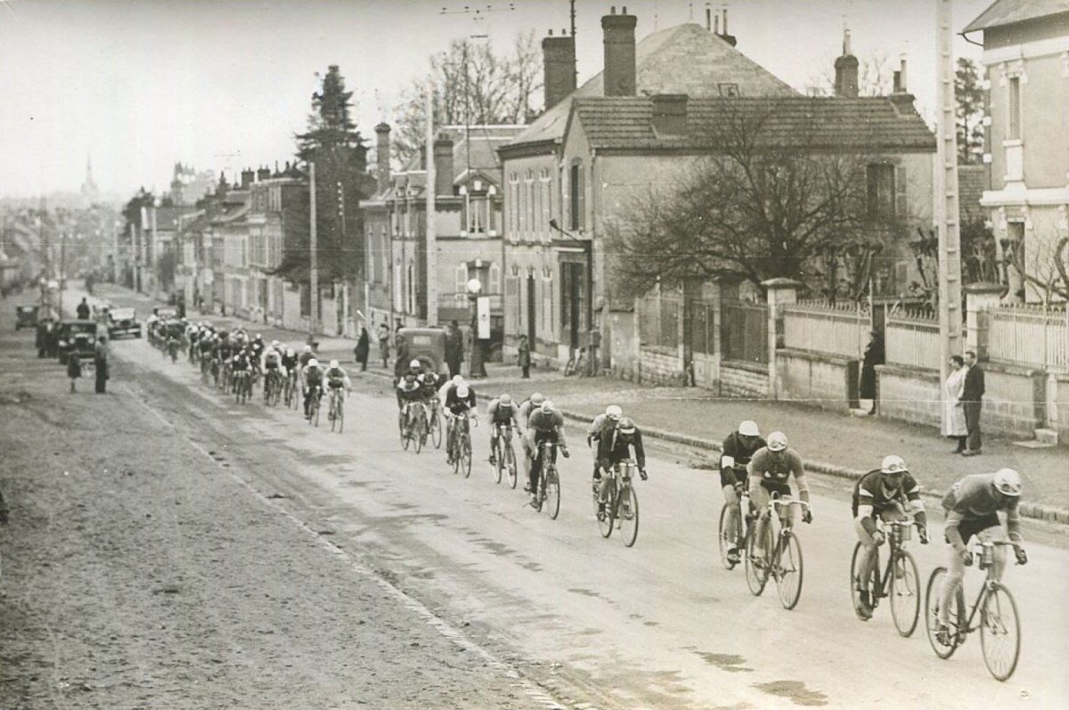
[[[910,108],[899,112],[892,99],[812,98],[692,98],[686,106],[686,130],[659,136],[653,129],[651,98],[601,97],[575,102],[575,118],[590,145],[615,150],[716,150],[717,127],[738,117],[761,120],[769,143],[790,145],[807,133],[808,148],[866,150],[935,150],[935,137]]]

